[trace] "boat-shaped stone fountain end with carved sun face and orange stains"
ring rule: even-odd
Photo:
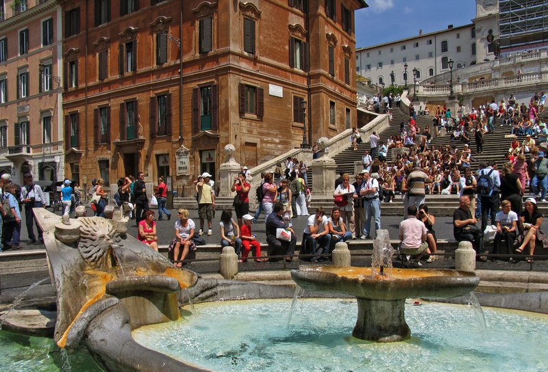
[[[140,326],[179,319],[177,294],[197,275],[127,235],[127,220],[107,207],[103,217],[61,220],[34,209],[44,230],[49,276],[55,285],[54,339],[60,347],[80,341],[109,371],[201,371],[132,338]]]

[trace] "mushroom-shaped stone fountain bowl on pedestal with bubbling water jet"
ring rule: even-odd
[[[388,230],[378,230],[372,267],[301,266],[291,277],[303,289],[346,293],[356,297],[358,319],[352,335],[368,341],[395,342],[410,337],[405,303],[408,297],[451,298],[470,293],[479,278],[451,269],[397,269]]]

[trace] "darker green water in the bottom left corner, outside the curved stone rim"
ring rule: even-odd
[[[84,347],[64,354],[53,339],[0,331],[0,371],[101,371]]]

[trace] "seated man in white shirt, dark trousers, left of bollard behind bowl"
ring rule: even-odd
[[[327,257],[320,257],[320,254],[329,253],[329,245],[331,244],[331,235],[329,234],[329,226],[327,217],[322,207],[316,209],[316,214],[310,215],[306,222],[306,228],[303,230],[303,248],[302,251],[307,254],[317,254],[313,256],[312,263],[318,261],[327,261]]]

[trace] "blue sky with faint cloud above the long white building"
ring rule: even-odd
[[[356,12],[356,47],[370,47],[447,28],[475,17],[475,0],[365,0]]]

